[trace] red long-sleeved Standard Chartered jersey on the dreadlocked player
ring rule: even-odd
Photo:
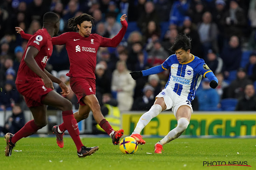
[[[58,37],[52,38],[53,45],[64,45],[69,56],[70,71],[69,77],[95,78],[96,55],[99,47],[117,47],[123,39],[128,27],[126,20],[121,21],[122,29],[113,37],[105,38],[98,34],[90,34],[83,37],[78,32],[63,33]],[[30,34],[20,32],[22,38],[29,39]]]

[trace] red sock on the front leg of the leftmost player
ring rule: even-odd
[[[81,149],[83,143],[81,142],[81,139],[79,137],[79,129],[77,126],[77,122],[74,118],[73,111],[63,111],[62,112],[62,118],[63,118],[63,124],[67,128],[69,135],[75,142],[75,146],[77,151]]]

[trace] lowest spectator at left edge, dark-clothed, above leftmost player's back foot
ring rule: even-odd
[[[25,125],[25,116],[18,104],[15,104],[12,108],[12,115],[7,118],[4,123],[4,127],[0,126],[0,133],[12,133],[15,134]]]

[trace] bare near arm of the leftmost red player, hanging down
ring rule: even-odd
[[[39,50],[34,46],[28,46],[26,55],[24,57],[24,62],[33,72],[35,72],[39,77],[43,79],[45,87],[53,89],[53,82],[51,81],[51,79],[48,78],[44,71],[40,69],[34,59],[34,57],[37,56],[38,52]]]

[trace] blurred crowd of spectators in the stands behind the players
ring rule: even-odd
[[[169,70],[136,81],[129,73],[162,64],[174,54],[169,48],[176,35],[186,33],[192,38],[191,53],[203,58],[219,81],[212,89],[208,79],[202,80],[192,102],[194,111],[256,111],[256,0],[1,0],[0,110],[15,105],[28,109],[14,83],[27,40],[15,27],[33,34],[42,28],[48,11],[60,17],[59,34],[72,31],[68,19],[87,13],[95,18],[92,33],[108,38],[121,29],[120,16],[127,15],[122,42],[97,53],[96,96],[102,106],[115,103],[121,112],[150,109]],[[54,46],[46,69],[69,85],[65,45]],[[61,92],[57,84],[54,87]],[[70,91],[63,97],[78,109]],[[104,96],[109,100],[102,100]]]

